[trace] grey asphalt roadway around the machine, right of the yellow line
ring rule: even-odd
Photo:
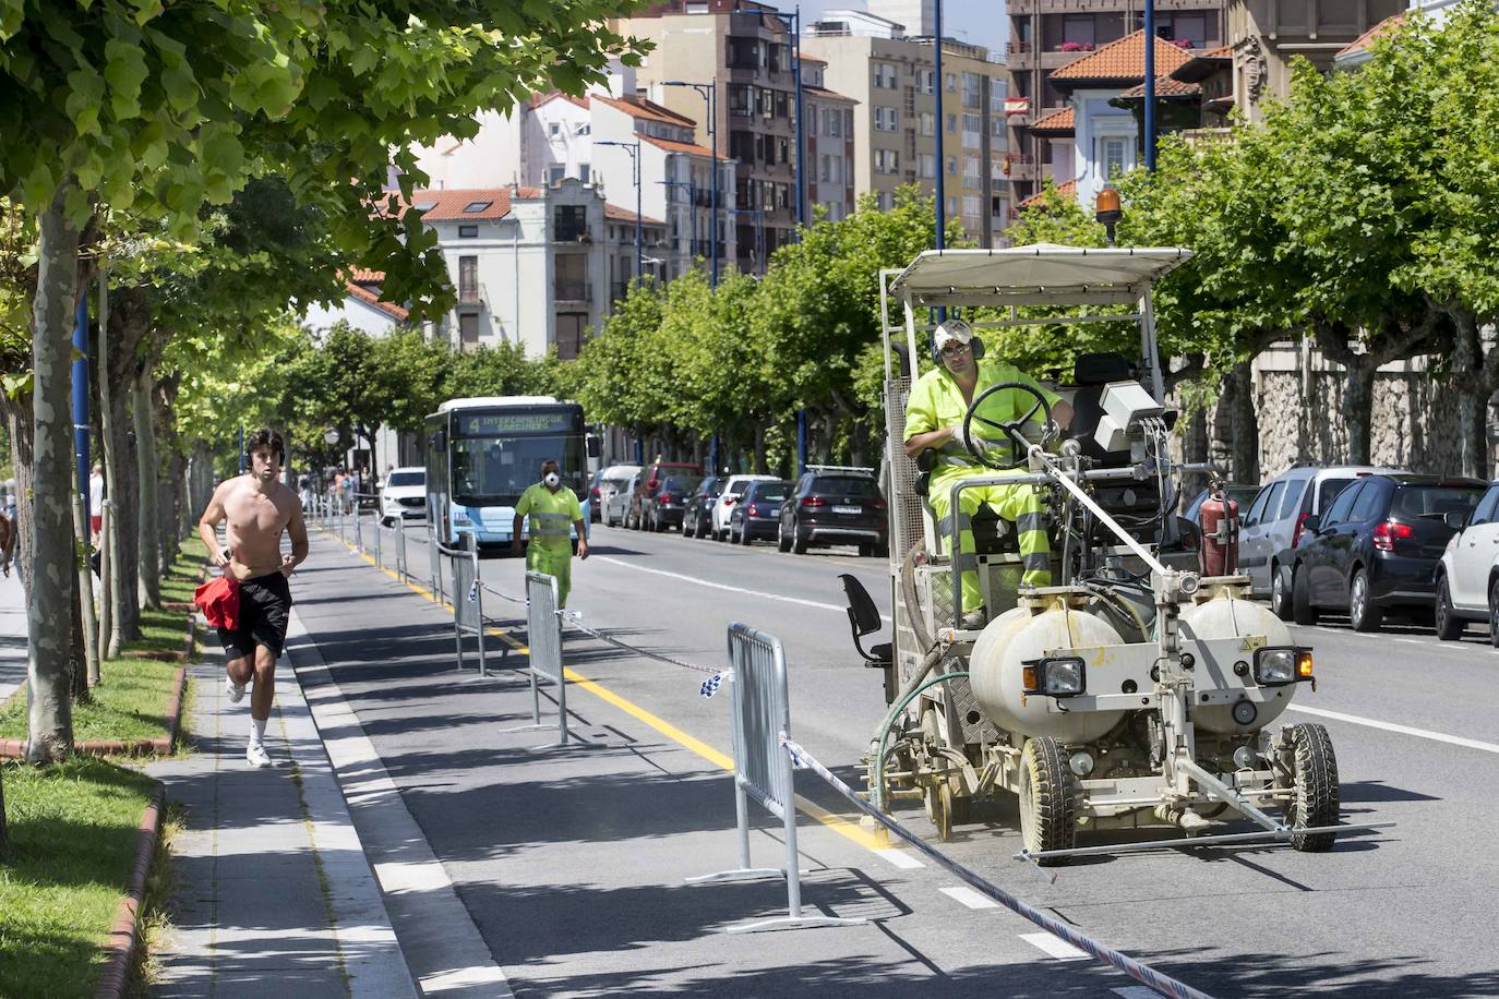
[[[408,544],[409,565],[424,572],[424,547]],[[393,563],[388,548],[385,560]],[[592,557],[574,563],[571,605],[622,641],[711,666],[726,661],[729,622],[773,632],[790,664],[793,734],[857,783],[853,764],[886,708],[880,674],[862,666],[850,643],[836,578],[842,572],[859,577],[889,613],[884,563],[851,548],[797,557],[767,544],[741,548],[595,526]],[[483,574],[501,590],[522,592],[517,560],[486,562]],[[1400,625],[1378,635],[1354,634],[1336,620],[1294,631],[1316,649],[1319,692],[1300,687],[1282,719],[1327,725],[1345,821],[1394,821],[1396,828],[1345,837],[1330,854],[1250,846],[1088,858],[1048,884],[1010,860],[1019,849],[1018,818],[1003,803],[980,810],[980,821],[961,827],[944,849],[1022,900],[1216,996],[1499,995],[1499,860],[1490,848],[1499,824],[1499,653],[1477,625],[1462,643]],[[574,640],[568,662],[729,750],[726,705],[699,695],[700,674]],[[832,803],[806,777],[797,776],[799,788]],[[919,807],[899,816],[931,833]],[[429,828],[439,857],[445,836],[459,833]],[[878,861],[866,870],[889,875],[893,887],[884,890],[907,903],[902,941],[916,972],[907,966],[902,974],[943,986],[931,995],[970,995],[968,984],[971,995],[1109,995],[1129,986],[1069,978],[1072,965],[1037,950],[1018,920],[997,932],[1000,921],[974,918],[994,914],[974,912],[961,893],[947,893],[955,882],[940,870],[896,872]],[[806,939],[785,936],[781,947],[794,956]],[[973,968],[988,959],[1007,977],[974,978]],[[1019,977],[1027,960],[1054,975],[1043,980],[1051,984]],[[827,995],[826,978],[806,981],[818,986],[802,995]]]

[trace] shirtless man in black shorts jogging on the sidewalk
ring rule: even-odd
[[[286,644],[286,619],[291,614],[291,587],[286,578],[307,557],[307,526],[301,520],[301,502],[280,481],[280,466],[286,460],[279,433],[256,430],[244,442],[250,452],[250,470],[225,479],[213,491],[208,509],[198,521],[198,536],[213,554],[213,563],[225,575],[240,581],[238,628],[219,629],[219,641],[228,656],[229,677],[225,681],[229,699],[244,696],[244,684],[255,680],[250,693],[250,744],[244,759],[252,767],[270,767],[265,753],[265,722],[276,696],[276,659]],[[219,524],[228,520],[219,545]],[[291,554],[280,551],[282,532],[291,535]]]

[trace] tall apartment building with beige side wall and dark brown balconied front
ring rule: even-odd
[[[775,7],[754,0],[666,0],[619,21],[624,34],[651,39],[636,69],[639,87],[670,111],[696,120],[694,142],[736,162],[726,214],[729,259],[761,273],[796,228],[796,79],[791,34]],[[715,118],[703,96],[669,82],[717,84]],[[720,204],[723,195],[720,195]],[[732,246],[730,246],[732,244]]]

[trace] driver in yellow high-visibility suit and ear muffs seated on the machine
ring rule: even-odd
[[[943,538],[952,536],[952,485],[958,479],[1004,475],[986,467],[964,446],[962,422],[976,395],[991,385],[1022,382],[1036,388],[1051,406],[1051,418],[1058,427],[1072,422],[1072,406],[1055,392],[1042,388],[1036,379],[1019,368],[991,361],[983,356],[983,343],[976,340],[973,330],[961,319],[950,319],[937,327],[932,349],[940,364],[911,386],[905,400],[905,454],[911,458],[934,448],[937,464],[931,473],[928,502],[937,515],[937,530]],[[1024,389],[1006,389],[985,400],[979,410],[994,422],[1015,422],[1036,406],[1036,397]],[[995,439],[1000,431],[982,427],[976,419],[970,430],[976,437]],[[994,440],[998,445],[998,440]],[[1016,469],[1013,475],[1022,475]],[[994,512],[1015,524],[1019,541],[1025,586],[1051,586],[1051,542],[1040,493],[1034,485],[979,485],[958,494],[958,554],[955,568],[962,572],[962,626],[985,625],[983,593],[979,589],[979,571],[974,559],[973,529],[968,520],[988,503]]]

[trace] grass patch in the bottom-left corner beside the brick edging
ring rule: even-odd
[[[91,996],[153,782],[90,756],[0,768],[0,996]]]

